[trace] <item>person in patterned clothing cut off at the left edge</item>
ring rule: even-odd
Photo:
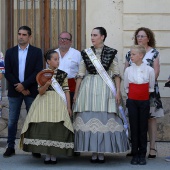
[[[5,69],[4,69],[4,56],[2,54],[2,52],[0,52],[0,117],[2,114],[2,86],[1,86],[1,80],[3,77],[3,74],[5,73]]]

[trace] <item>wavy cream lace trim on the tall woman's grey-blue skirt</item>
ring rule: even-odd
[[[115,131],[122,132],[124,130],[123,126],[111,118],[108,120],[107,124],[104,125],[99,119],[90,119],[87,123],[84,123],[81,117],[77,117],[73,123],[74,130],[81,130],[83,132],[91,131],[92,133],[101,132],[112,132]]]

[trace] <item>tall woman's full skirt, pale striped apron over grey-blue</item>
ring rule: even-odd
[[[82,80],[73,112],[75,152],[122,153],[130,149],[115,97],[99,75]]]

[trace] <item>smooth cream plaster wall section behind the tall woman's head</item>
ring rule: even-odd
[[[107,31],[105,45],[118,50],[120,66],[122,63],[122,0],[86,0],[86,45],[90,47],[91,31],[102,26]]]

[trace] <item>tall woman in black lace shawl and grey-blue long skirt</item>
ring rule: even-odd
[[[74,95],[75,152],[91,152],[92,163],[104,163],[104,153],[129,150],[129,143],[122,117],[117,109],[120,104],[120,72],[117,50],[104,45],[107,37],[103,27],[92,30],[91,47],[109,77],[115,82],[116,97],[98,74],[86,52],[81,52]]]

